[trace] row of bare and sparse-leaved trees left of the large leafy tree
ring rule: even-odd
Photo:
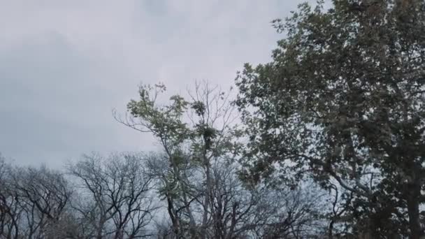
[[[4,238],[303,238],[323,229],[319,189],[248,184],[230,94],[208,82],[190,100],[145,85],[118,122],[159,152],[92,153],[55,171],[1,160]],[[240,134],[240,136],[238,136]],[[307,186],[307,184],[305,185]]]

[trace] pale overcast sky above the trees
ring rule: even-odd
[[[82,153],[152,150],[118,124],[138,85],[228,87],[270,59],[271,20],[301,1],[0,0],[0,152],[60,166]]]

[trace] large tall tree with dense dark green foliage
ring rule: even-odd
[[[323,1],[302,4],[273,21],[287,33],[273,61],[238,74],[252,159],[245,175],[278,171],[287,182],[312,175],[328,189],[336,183],[354,196],[352,220],[367,215],[357,229],[387,238],[408,228],[417,239],[424,235],[425,3],[332,2],[326,10]]]

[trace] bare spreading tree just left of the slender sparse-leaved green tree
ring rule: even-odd
[[[68,168],[80,189],[80,201],[75,201],[73,208],[92,228],[87,230],[87,238],[148,236],[146,226],[157,207],[141,157],[112,154],[104,159],[92,154]]]

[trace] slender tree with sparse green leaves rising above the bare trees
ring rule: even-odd
[[[159,192],[165,196],[175,235],[205,238],[210,223],[212,161],[230,160],[238,147],[231,137],[236,132],[231,127],[236,119],[234,107],[229,94],[208,82],[196,83],[193,94],[189,92],[191,101],[174,95],[171,103],[163,106],[157,97],[165,90],[162,84],[141,87],[140,99],[127,105],[130,115],[124,120],[116,118],[159,140],[163,152],[150,161],[150,168],[160,182]],[[196,182],[201,185],[196,186]],[[202,208],[200,221],[196,207]]]

